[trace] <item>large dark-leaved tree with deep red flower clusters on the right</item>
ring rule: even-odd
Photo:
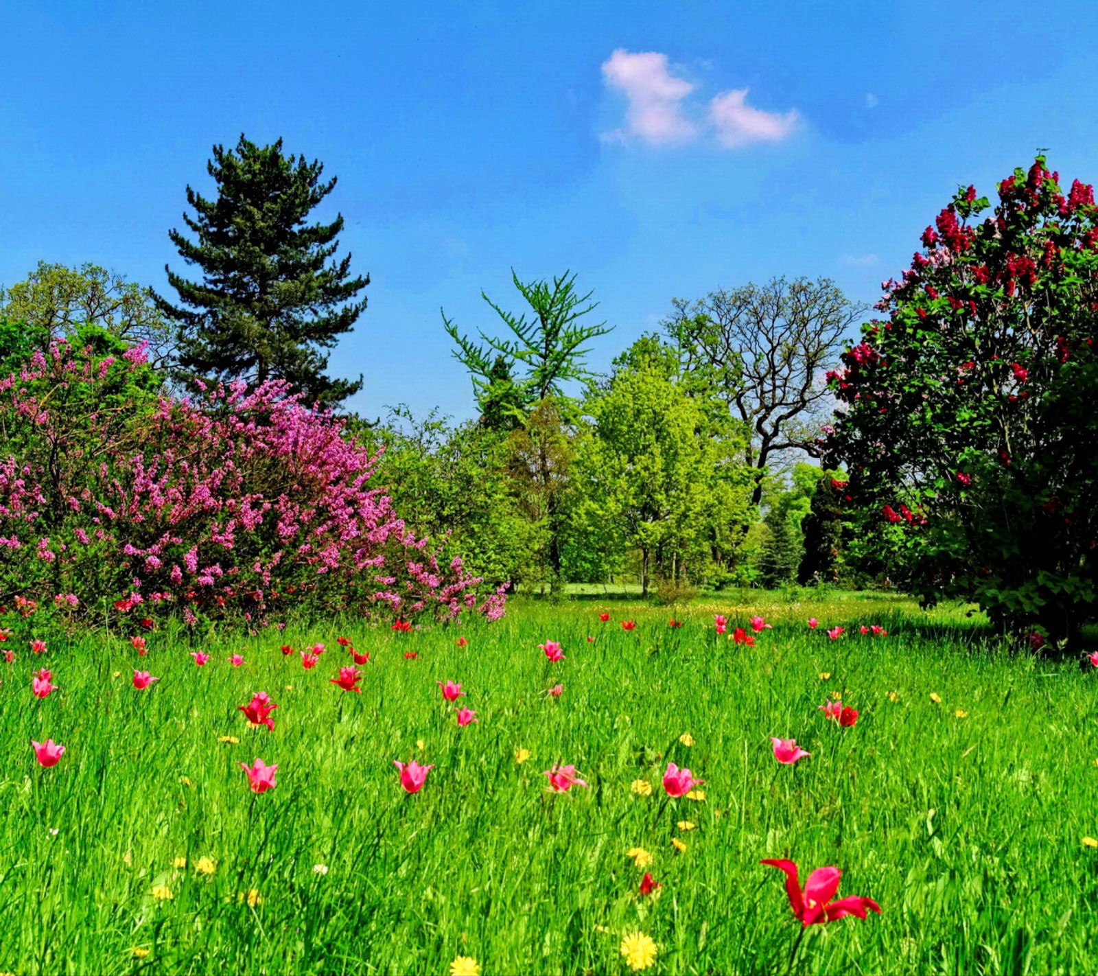
[[[998,191],[959,191],[885,284],[825,448],[894,581],[1060,639],[1098,616],[1098,209],[1043,157]]]

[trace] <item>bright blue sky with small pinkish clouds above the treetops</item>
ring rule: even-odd
[[[922,2],[0,4],[0,282],[40,259],[166,288],[215,143],[284,138],[339,183],[369,307],[349,404],[471,390],[439,308],[579,272],[605,368],[675,298],[775,274],[854,299],[959,183],[1038,147],[1098,180],[1098,5]],[[746,90],[746,93],[744,93]],[[330,206],[327,206],[327,204]]]

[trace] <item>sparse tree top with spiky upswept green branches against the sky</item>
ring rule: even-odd
[[[551,282],[525,283],[512,271],[512,280],[528,305],[528,312],[520,315],[504,311],[481,292],[506,326],[507,338],[481,332],[482,344],[475,343],[442,313],[446,332],[457,347],[453,356],[469,370],[481,416],[492,425],[518,426],[549,399],[557,399],[559,407],[567,406],[560,400],[562,384],[591,377],[583,364],[587,344],[610,332],[606,323],[581,323],[598,303],[591,301],[592,292],[576,292],[574,274],[565,271]]]

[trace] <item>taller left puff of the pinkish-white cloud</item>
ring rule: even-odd
[[[685,143],[697,135],[697,126],[681,109],[694,86],[671,74],[665,54],[630,54],[619,47],[603,61],[603,79],[629,101],[625,128],[609,133],[610,138],[636,136],[660,146]]]

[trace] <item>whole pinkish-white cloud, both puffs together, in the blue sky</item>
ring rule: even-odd
[[[639,139],[666,146],[710,136],[718,145],[735,149],[780,142],[794,132],[799,119],[796,109],[764,112],[747,104],[748,89],[742,88],[713,98],[704,121],[695,122],[687,98],[697,86],[676,77],[668,56],[654,51],[618,48],[603,63],[603,80],[627,100],[625,125],[604,135],[619,142]]]

